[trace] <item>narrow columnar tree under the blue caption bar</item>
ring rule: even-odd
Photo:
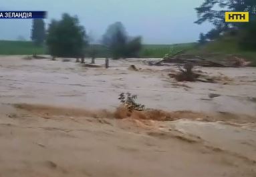
[[[45,23],[43,19],[33,19],[31,39],[35,45],[43,45],[45,41]]]

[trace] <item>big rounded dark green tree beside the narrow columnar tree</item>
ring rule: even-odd
[[[61,20],[49,24],[46,43],[54,57],[82,57],[87,44],[86,31],[77,17],[64,13]]]

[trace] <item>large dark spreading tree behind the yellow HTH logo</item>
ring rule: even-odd
[[[205,0],[196,10],[199,18],[195,23],[202,24],[209,21],[215,26],[205,34],[206,39],[211,41],[219,39],[221,35],[233,31],[233,35],[237,36],[243,49],[256,50],[255,0]],[[225,23],[225,11],[249,11],[249,23]]]

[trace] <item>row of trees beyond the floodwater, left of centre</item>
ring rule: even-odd
[[[60,20],[51,20],[45,29],[43,19],[34,19],[31,39],[35,45],[47,46],[47,52],[55,57],[84,58],[86,52],[96,56],[96,47],[90,44],[84,26],[78,17],[64,13]],[[106,47],[108,56],[114,59],[138,57],[142,48],[141,37],[130,37],[121,22],[113,23],[102,36],[101,43]]]

